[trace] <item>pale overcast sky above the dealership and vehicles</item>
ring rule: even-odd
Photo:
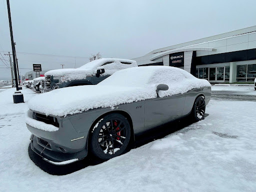
[[[32,70],[33,63],[41,63],[42,69],[73,68],[97,52],[134,58],[252,26],[255,7],[256,0],[10,0],[21,74]],[[3,51],[11,52],[6,0],[0,0],[0,53],[7,53]],[[3,67],[0,60],[0,79],[10,79],[10,69]]]

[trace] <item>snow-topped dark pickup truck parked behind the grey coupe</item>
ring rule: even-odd
[[[45,73],[44,92],[68,86],[97,84],[117,70],[137,66],[135,60],[100,58],[79,68],[49,70]]]

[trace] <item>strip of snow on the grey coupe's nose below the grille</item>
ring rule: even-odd
[[[56,126],[33,119],[32,115],[33,115],[33,112],[31,110],[27,110],[26,116],[25,116],[25,121],[28,125],[36,127],[41,130],[46,130],[46,131],[58,130],[58,127],[56,127]]]

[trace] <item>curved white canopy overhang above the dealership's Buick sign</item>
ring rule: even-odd
[[[212,48],[212,47],[191,47],[191,48],[177,48],[177,49],[172,49],[172,50],[166,50],[163,52],[158,52],[158,53],[154,53],[152,54],[150,60],[154,61],[159,59],[160,57],[167,55],[167,54],[171,54],[171,53],[175,53],[175,52],[183,52],[183,51],[216,51],[216,48]]]

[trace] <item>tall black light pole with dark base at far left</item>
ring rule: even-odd
[[[13,68],[14,68],[14,76],[15,76],[15,84],[16,84],[16,91],[13,94],[13,102],[19,103],[24,102],[23,94],[18,89],[18,79],[17,79],[17,69],[16,69],[16,55],[15,55],[15,45],[13,41],[13,34],[12,34],[12,25],[11,25],[11,16],[10,16],[10,3],[9,0],[7,2],[7,9],[8,9],[8,17],[9,17],[9,27],[10,27],[10,41],[11,41],[11,49],[12,49],[12,57],[13,57]]]

